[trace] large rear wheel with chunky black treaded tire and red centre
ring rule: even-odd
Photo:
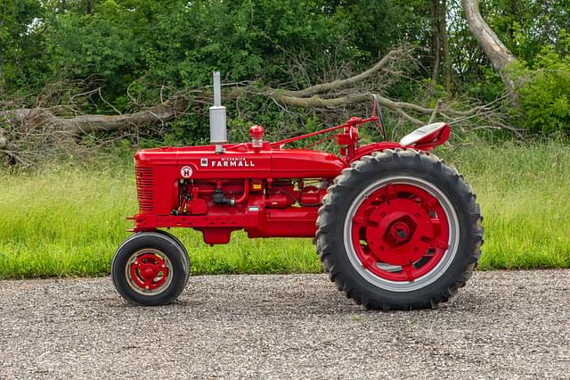
[[[330,279],[373,310],[433,308],[465,285],[483,244],[479,205],[436,156],[386,150],[329,187],[316,245]]]

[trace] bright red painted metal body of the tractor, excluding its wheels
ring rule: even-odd
[[[342,169],[363,155],[402,147],[397,143],[359,146],[358,128],[376,120],[376,116],[351,118],[340,126],[264,142],[260,147],[227,144],[221,154],[216,154],[215,145],[139,151],[134,154],[139,213],[133,217],[133,230],[192,227],[203,232],[208,244],[225,244],[231,232],[239,229],[249,237],[314,236],[326,187]],[[336,135],[327,138],[336,138],[340,156],[285,148],[331,132]],[[262,138],[263,128],[254,126],[250,133]],[[436,138],[436,144],[444,142],[442,136]],[[191,178],[182,177],[185,166],[191,168]],[[216,193],[222,203],[215,202]]]

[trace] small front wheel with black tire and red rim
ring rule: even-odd
[[[173,302],[190,276],[190,260],[183,245],[164,232],[141,232],[118,247],[111,277],[118,293],[134,305],[159,306]]]

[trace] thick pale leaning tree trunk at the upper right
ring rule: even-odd
[[[509,65],[517,59],[510,53],[507,46],[503,45],[499,37],[493,32],[493,29],[481,16],[479,11],[479,0],[461,0],[463,11],[467,18],[469,29],[476,38],[479,46],[493,64],[495,70],[501,75],[502,81],[511,94],[511,101],[516,103],[515,81],[509,74]]]

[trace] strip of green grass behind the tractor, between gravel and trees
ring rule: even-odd
[[[467,145],[440,152],[474,187],[485,216],[479,268],[570,268],[570,146]],[[132,170],[45,169],[0,175],[0,277],[99,276],[136,211]],[[319,272],[310,239],[233,233],[209,247],[175,229],[193,274]]]

